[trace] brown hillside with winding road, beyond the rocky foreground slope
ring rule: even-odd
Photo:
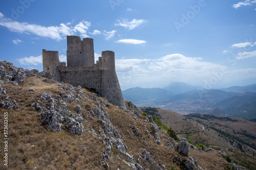
[[[159,117],[162,123],[171,127],[181,137],[194,145],[225,150],[234,162],[250,169],[256,167],[256,123],[240,118],[219,115],[180,115],[159,108],[140,108]]]

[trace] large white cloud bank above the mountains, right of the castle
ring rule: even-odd
[[[117,59],[116,71],[122,88],[161,87],[166,82],[202,82],[212,77],[212,72],[223,70],[222,65],[203,62],[202,58],[190,58],[172,54],[159,59]]]

